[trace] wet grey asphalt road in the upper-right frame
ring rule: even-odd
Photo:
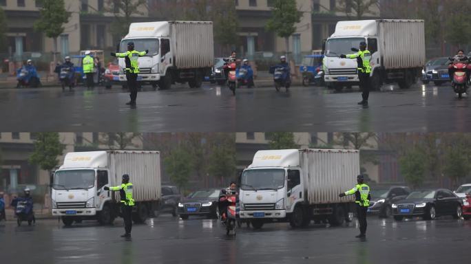
[[[242,88],[236,96],[237,131],[471,131],[471,99],[459,100],[449,84],[381,89],[370,93],[369,108],[363,109],[357,87],[338,93],[313,86],[289,93]]]

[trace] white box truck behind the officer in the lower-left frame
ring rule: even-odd
[[[113,223],[120,214],[119,192],[103,187],[121,185],[123,174],[128,174],[133,184],[133,220],[145,221],[160,201],[158,151],[67,153],[63,165],[54,173],[52,216],[61,217],[65,225],[85,219]]]

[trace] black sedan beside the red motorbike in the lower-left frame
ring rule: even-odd
[[[190,215],[218,218],[217,208],[221,189],[197,190],[178,203],[177,212],[183,220]]]

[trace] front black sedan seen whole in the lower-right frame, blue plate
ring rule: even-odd
[[[397,221],[404,217],[423,217],[433,220],[436,217],[452,215],[461,218],[463,199],[451,190],[419,190],[410,193],[404,200],[392,204],[392,215]]]

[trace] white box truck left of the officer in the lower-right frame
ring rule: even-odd
[[[240,218],[254,228],[271,221],[294,228],[311,220],[352,221],[355,199],[338,195],[355,186],[359,172],[359,151],[258,151],[240,176]]]

